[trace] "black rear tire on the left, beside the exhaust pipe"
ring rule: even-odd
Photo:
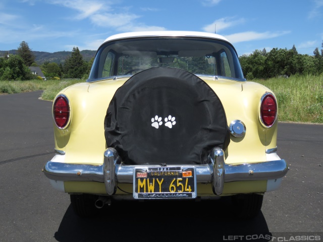
[[[70,198],[73,210],[79,217],[93,217],[98,214],[99,209],[94,205],[98,196],[89,194],[71,194]]]

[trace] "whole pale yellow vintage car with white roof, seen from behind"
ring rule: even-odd
[[[243,77],[234,46],[204,32],[113,35],[85,83],[53,101],[43,171],[81,217],[120,200],[221,199],[252,218],[288,171],[277,100]]]

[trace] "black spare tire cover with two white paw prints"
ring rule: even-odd
[[[104,129],[107,147],[128,165],[202,164],[212,148],[230,142],[217,94],[175,68],[151,68],[125,82],[107,108]]]

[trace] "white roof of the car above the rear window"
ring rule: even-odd
[[[133,37],[153,37],[153,36],[171,36],[171,37],[206,37],[214,39],[222,39],[230,42],[227,38],[219,34],[197,32],[197,31],[142,31],[142,32],[128,32],[115,34],[106,38],[103,43],[115,39],[133,38]]]

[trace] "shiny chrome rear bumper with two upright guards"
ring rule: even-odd
[[[142,165],[140,167],[145,169],[149,166],[156,165]],[[178,166],[185,167],[185,165]],[[211,183],[216,195],[222,194],[225,182],[279,179],[288,171],[287,163],[283,159],[240,165],[225,164],[224,151],[219,147],[212,150],[207,164],[193,166],[196,168],[196,182]],[[108,148],[104,152],[102,165],[48,161],[43,172],[51,180],[98,181],[105,184],[108,195],[113,195],[117,190],[118,183],[133,183],[134,167],[138,167],[138,165],[123,165],[117,151]]]

